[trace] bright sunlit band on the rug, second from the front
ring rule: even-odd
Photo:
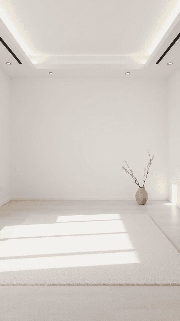
[[[10,243],[11,246],[8,245]],[[133,248],[127,233],[12,239],[7,242],[7,247],[3,250],[4,255],[1,252],[1,257],[132,250]]]

